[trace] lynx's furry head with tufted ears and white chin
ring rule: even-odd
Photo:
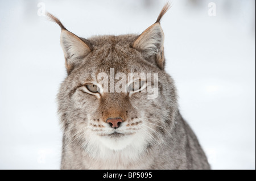
[[[61,27],[67,68],[57,95],[64,147],[73,144],[93,152],[88,145],[110,150],[139,145],[143,150],[168,134],[174,126],[177,96],[164,71],[160,19],[169,8],[164,6],[141,35],[89,39],[76,36],[48,14]]]

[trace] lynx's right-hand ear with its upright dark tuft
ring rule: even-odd
[[[160,20],[169,9],[170,5],[167,3],[160,12],[156,22],[139,35],[133,43],[133,47],[141,50],[146,60],[156,64],[160,69],[164,69],[164,33],[160,26]]]

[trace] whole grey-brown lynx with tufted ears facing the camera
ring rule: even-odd
[[[47,14],[61,28],[67,69],[57,95],[63,128],[61,169],[210,169],[197,137],[180,115],[174,80],[164,70],[160,20],[168,9],[167,3],[141,35],[89,39]],[[135,76],[117,86],[120,77],[111,82],[111,71],[127,77],[152,73],[152,78],[157,73],[158,80]],[[108,76],[104,86],[100,73]],[[112,85],[127,91],[118,92]],[[158,92],[154,98],[149,97],[149,85]]]

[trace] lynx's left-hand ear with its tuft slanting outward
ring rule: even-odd
[[[47,13],[47,16],[61,27],[60,45],[64,52],[65,65],[69,74],[76,65],[80,64],[81,58],[84,58],[91,52],[90,42],[69,32],[60,20],[52,14]]]

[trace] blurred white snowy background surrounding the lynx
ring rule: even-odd
[[[60,166],[64,56],[60,28],[38,10],[89,37],[141,33],[165,2],[0,0],[0,169]],[[176,0],[162,28],[181,113],[212,168],[255,169],[255,1]]]

